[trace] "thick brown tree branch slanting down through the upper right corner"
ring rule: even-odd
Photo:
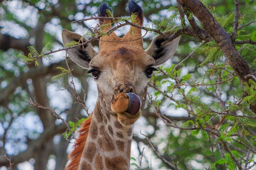
[[[237,51],[230,35],[199,0],[180,0],[180,2],[183,7],[190,10],[200,20],[203,28],[219,45],[241,82],[247,82],[248,78],[246,78],[246,75],[252,74],[252,69]]]

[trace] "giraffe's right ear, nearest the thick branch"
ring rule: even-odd
[[[180,36],[171,42],[162,44],[164,41],[164,38],[158,35],[152,40],[147,50],[145,50],[146,53],[150,54],[155,59],[155,65],[160,65],[174,56],[179,45]]]

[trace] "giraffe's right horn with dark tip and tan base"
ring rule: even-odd
[[[143,26],[143,10],[141,7],[136,4],[134,1],[130,1],[128,4],[129,14],[132,16],[136,14],[136,17],[133,19],[132,22],[138,26]],[[137,44],[142,46],[142,36],[141,36],[141,29],[136,28],[134,26],[130,27],[129,32],[123,37],[125,40],[135,40]]]

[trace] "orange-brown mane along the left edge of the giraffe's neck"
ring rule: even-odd
[[[82,151],[84,145],[86,145],[86,140],[89,133],[89,128],[91,125],[92,114],[83,121],[81,129],[78,131],[79,137],[76,139],[73,146],[74,150],[69,154],[70,163],[65,167],[65,170],[77,170],[78,165],[82,156]]]

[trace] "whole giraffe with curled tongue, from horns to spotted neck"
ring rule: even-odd
[[[134,23],[143,25],[143,11],[129,2],[129,13],[136,14]],[[110,7],[102,3],[98,16],[107,16]],[[99,19],[100,32],[112,28],[111,20]],[[82,36],[63,30],[63,44],[81,40]],[[172,57],[180,37],[162,44],[157,36],[143,50],[141,29],[131,26],[128,33],[118,37],[114,32],[99,39],[99,52],[90,43],[67,51],[70,58],[94,77],[98,98],[93,113],[83,122],[79,138],[70,154],[66,169],[129,169],[133,125],[145,105],[147,83],[154,66]],[[83,42],[86,41],[85,39]]]

